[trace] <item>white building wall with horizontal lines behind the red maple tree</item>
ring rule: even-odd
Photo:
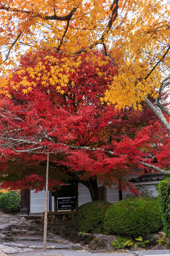
[[[142,172],[142,169],[136,169],[135,173],[128,174],[125,179],[131,179],[137,177]],[[157,181],[158,182],[158,181]],[[147,188],[149,192],[152,193],[152,196],[157,195],[155,183],[156,181],[150,181],[145,184],[145,182],[140,182],[140,185],[143,185]],[[138,188],[139,184],[134,183],[135,187]],[[101,184],[99,184],[99,187]],[[111,188],[107,188],[107,201],[114,204],[119,201],[119,190],[116,189],[117,186],[112,186]],[[48,194],[49,196],[49,194]],[[125,199],[129,196],[133,196],[130,194],[129,188],[126,191],[122,191],[122,199]],[[69,197],[68,197],[69,198]],[[78,206],[85,204],[87,202],[91,202],[90,191],[85,185],[78,183]],[[49,207],[49,206],[48,206]],[[49,208],[48,208],[49,209]],[[34,190],[31,190],[30,194],[30,213],[42,213],[45,211],[45,191],[41,191],[38,193],[34,193]],[[52,211],[54,211],[54,196],[52,196]]]

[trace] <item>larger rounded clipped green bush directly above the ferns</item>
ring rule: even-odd
[[[104,231],[120,236],[144,236],[162,227],[157,198],[131,197],[113,204],[106,212]]]

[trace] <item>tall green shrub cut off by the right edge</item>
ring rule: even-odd
[[[161,180],[158,183],[157,188],[164,229],[166,237],[169,237],[170,240],[170,177],[167,176],[166,179]],[[170,242],[168,243],[168,246],[170,246]]]

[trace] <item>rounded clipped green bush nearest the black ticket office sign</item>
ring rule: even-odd
[[[105,201],[82,204],[75,212],[74,227],[85,233],[103,233],[105,213],[111,205]]]

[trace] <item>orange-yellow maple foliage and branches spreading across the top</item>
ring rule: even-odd
[[[1,90],[9,93],[9,83],[28,92],[37,80],[28,81],[26,73],[32,77],[41,76],[41,85],[49,80],[43,60],[55,62],[51,71],[50,84],[66,87],[70,71],[80,66],[86,57],[101,66],[109,60],[115,62],[118,73],[102,100],[110,101],[118,107],[131,106],[141,109],[141,101],[148,94],[157,96],[154,88],[159,87],[159,77],[169,66],[169,3],[159,0],[108,0],[100,1],[4,1],[0,3],[1,21]],[[103,48],[104,59],[97,58],[95,50]],[[62,60],[46,53],[57,53]],[[23,52],[33,53],[32,66],[22,66],[17,73],[18,84],[10,81],[11,66],[17,67]],[[100,76],[100,68],[96,69]],[[63,72],[65,72],[63,76]]]

